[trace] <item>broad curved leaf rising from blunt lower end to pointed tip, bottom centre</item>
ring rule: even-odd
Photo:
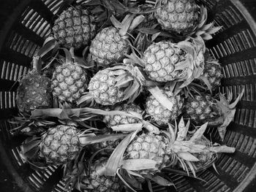
[[[113,153],[110,155],[110,158],[108,158],[108,163],[105,166],[105,175],[106,176],[115,176],[116,172],[118,170],[118,167],[120,166],[121,160],[123,158],[124,152],[127,149],[127,146],[130,142],[132,142],[132,139],[135,138],[138,131],[134,131],[131,134],[127,135],[116,147],[116,149],[113,151]]]

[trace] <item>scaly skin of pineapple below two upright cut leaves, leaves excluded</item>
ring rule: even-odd
[[[99,31],[90,47],[92,60],[103,66],[121,61],[128,50],[128,42],[118,34],[118,29],[112,26]]]

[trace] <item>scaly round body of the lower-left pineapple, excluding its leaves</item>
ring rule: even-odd
[[[48,164],[60,165],[72,161],[80,152],[77,128],[64,125],[49,128],[42,135],[39,151]]]

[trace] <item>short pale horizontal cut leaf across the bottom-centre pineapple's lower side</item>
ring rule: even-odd
[[[143,169],[156,169],[156,165],[157,161],[147,158],[127,159],[121,161],[121,168],[131,171],[138,171]]]

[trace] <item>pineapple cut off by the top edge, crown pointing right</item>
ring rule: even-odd
[[[154,16],[162,29],[181,38],[202,37],[208,40],[222,28],[214,26],[214,22],[206,24],[207,9],[199,6],[196,0],[158,0],[157,7]]]

